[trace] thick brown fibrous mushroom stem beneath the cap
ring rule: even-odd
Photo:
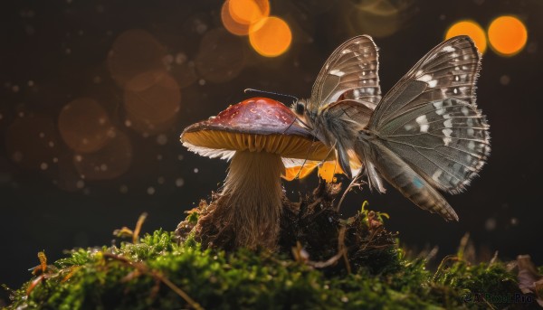
[[[281,155],[238,151],[228,169],[214,214],[209,214],[219,234],[233,231],[235,247],[274,249],[282,208]]]

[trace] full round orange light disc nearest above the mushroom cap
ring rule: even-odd
[[[264,18],[252,24],[249,31],[252,48],[266,57],[276,57],[286,52],[291,41],[291,27],[279,17]]]

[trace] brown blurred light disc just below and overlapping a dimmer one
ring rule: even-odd
[[[124,108],[130,127],[141,133],[157,134],[171,126],[181,108],[176,80],[163,75],[146,89],[125,89]]]

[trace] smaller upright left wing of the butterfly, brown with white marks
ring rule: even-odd
[[[323,108],[338,99],[351,99],[375,108],[381,99],[378,67],[377,47],[371,37],[360,35],[344,42],[320,70],[310,102]]]

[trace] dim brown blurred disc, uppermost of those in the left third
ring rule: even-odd
[[[162,74],[166,70],[165,56],[166,48],[151,33],[133,29],[121,33],[113,43],[108,54],[108,68],[113,80],[125,87],[141,73]],[[144,80],[152,82],[152,79]],[[141,81],[136,84],[141,87]]]

